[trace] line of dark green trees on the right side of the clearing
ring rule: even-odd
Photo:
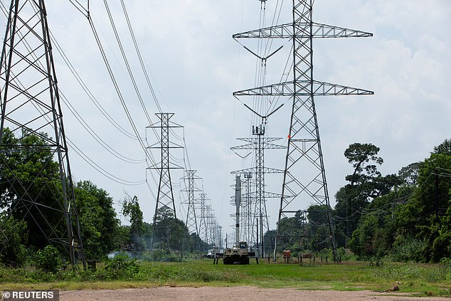
[[[336,192],[336,206],[329,208],[336,246],[363,260],[451,258],[451,140],[398,174],[378,171],[383,164],[379,151],[373,144],[354,143],[344,152],[353,172]],[[312,205],[307,214],[298,211],[293,218],[283,218],[280,235],[295,238],[282,238],[281,245],[295,253],[327,248],[327,211],[326,206]],[[309,238],[296,238],[306,233]]]

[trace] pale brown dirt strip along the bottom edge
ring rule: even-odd
[[[334,290],[296,290],[294,288],[265,289],[260,287],[151,287],[123,290],[65,290],[60,301],[362,301],[362,300],[447,300],[444,297],[408,297],[403,292],[372,292],[360,290],[338,292]]]

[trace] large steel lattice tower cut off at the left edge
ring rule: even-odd
[[[0,97],[2,221],[26,221],[28,230],[36,233],[28,240],[62,247],[71,263],[80,259],[85,264],[43,0],[11,1],[1,51]],[[34,162],[33,168],[19,170],[14,158],[26,160],[21,162],[25,165]],[[4,223],[0,248],[9,241]]]

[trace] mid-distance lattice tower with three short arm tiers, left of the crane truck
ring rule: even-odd
[[[183,148],[170,141],[169,133],[171,129],[182,126],[170,121],[174,113],[156,113],[155,115],[158,117],[159,122],[149,125],[148,128],[159,129],[161,136],[159,137],[160,141],[149,146],[149,149],[160,149],[161,161],[149,167],[149,169],[159,170],[159,186],[156,195],[154,234],[152,235],[151,250],[155,241],[156,221],[166,218],[174,218],[174,221],[177,220],[174,192],[172,191],[171,169],[183,169],[183,167],[172,163],[169,159],[169,149]],[[162,231],[162,233],[167,233],[167,231]],[[168,236],[169,234],[166,234],[165,238],[169,242]]]

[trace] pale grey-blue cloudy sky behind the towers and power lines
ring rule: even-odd
[[[1,2],[9,6],[9,1]],[[134,52],[120,1],[110,2],[127,59],[152,121],[156,122],[154,112],[158,110]],[[232,93],[253,88],[255,70],[260,65],[231,36],[256,29],[262,23],[270,25],[276,7],[282,7],[279,23],[291,21],[292,1],[267,0],[264,15],[260,4],[258,0],[126,1],[161,108],[174,112],[172,120],[184,126],[184,130],[174,130],[172,138],[178,144],[186,144],[188,157],[183,151],[174,150],[174,162],[188,164],[189,158],[189,167],[196,169],[203,179],[197,186],[211,199],[226,233],[233,231],[230,171],[249,167],[253,161],[252,155],[241,159],[230,147],[240,144],[235,138],[249,137],[250,127],[258,123]],[[46,6],[51,31],[80,78],[108,114],[132,132],[86,17],[69,0],[48,0]],[[139,134],[147,139],[146,144],[156,143],[152,130],[146,130],[149,122],[127,75],[103,1],[91,1],[90,14]],[[423,160],[435,145],[451,137],[450,16],[448,0],[430,0],[428,4],[421,0],[315,1],[314,21],[374,35],[314,41],[316,80],[375,92],[373,96],[315,99],[332,206],[334,194],[345,184],[344,176],[351,172],[343,156],[349,144],[372,143],[380,147],[384,159],[381,171],[388,174]],[[5,22],[2,16],[2,28]],[[240,42],[250,49],[256,47],[254,41]],[[267,60],[268,84],[280,80],[284,73],[290,53],[286,42],[275,41],[270,48],[272,52],[284,46]],[[138,162],[145,159],[139,143],[119,132],[97,110],[57,51],[54,57],[59,88],[87,125],[122,156]],[[252,105],[255,100],[241,101]],[[280,104],[287,102],[280,100]],[[90,159],[117,178],[130,182],[147,179],[149,185],[130,186],[112,181],[71,151],[75,179],[90,179],[110,192],[117,208],[127,194],[137,195],[145,221],[152,221],[157,175],[146,171],[145,162],[132,164],[112,156],[87,133],[67,105],[63,105],[63,113],[67,137]],[[268,120],[267,136],[282,137],[280,142],[285,144],[289,122],[290,105],[285,105]],[[283,169],[285,152],[267,152],[265,165]],[[179,192],[183,188],[179,180],[182,176],[181,170],[172,173],[176,208],[184,219],[186,209],[180,203],[186,196]],[[268,175],[266,181],[268,189],[280,193],[281,176]],[[268,215],[270,227],[274,228],[278,200],[270,202]]]

